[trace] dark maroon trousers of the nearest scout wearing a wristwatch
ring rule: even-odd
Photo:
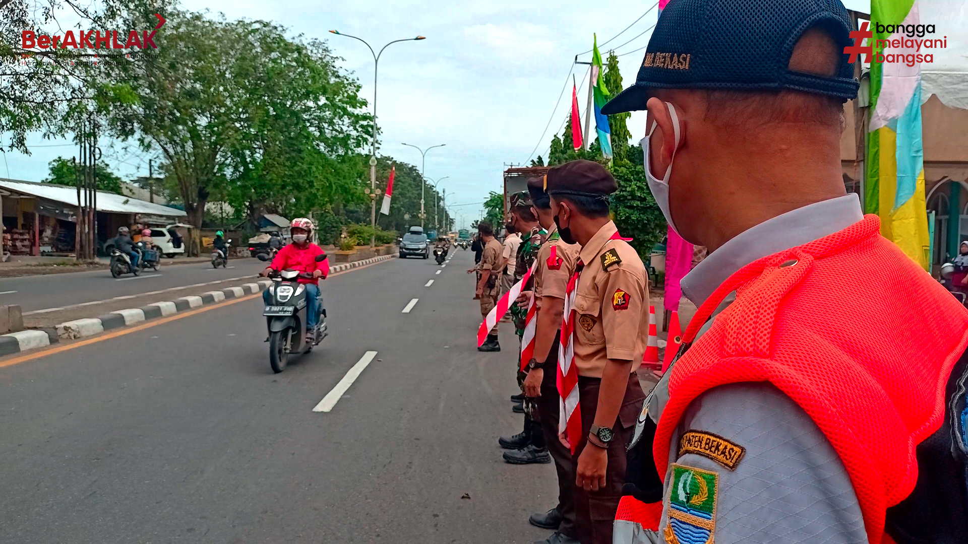
[[[582,413],[582,439],[572,456],[573,466],[577,469],[578,458],[588,445],[591,424],[598,408],[598,388],[601,378],[578,377],[578,406]],[[625,446],[632,438],[635,420],[642,409],[646,395],[639,384],[639,378],[632,373],[621,401],[619,417],[612,426],[615,438],[608,446],[608,468],[605,470],[605,488],[598,491],[585,491],[575,486],[575,520],[578,526],[578,539],[582,544],[612,544],[612,524],[619,509],[621,488],[625,483]],[[589,446],[595,447],[595,446]],[[574,478],[574,476],[572,476]]]

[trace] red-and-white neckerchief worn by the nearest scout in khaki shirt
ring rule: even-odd
[[[631,241],[622,238],[619,232],[609,240]],[[575,366],[575,293],[578,290],[578,278],[585,268],[582,259],[575,265],[575,273],[568,280],[568,287],[564,290],[564,314],[561,317],[560,348],[558,350],[558,394],[560,396],[558,434],[561,441],[575,453],[578,442],[582,439],[582,410],[578,409],[578,368]]]

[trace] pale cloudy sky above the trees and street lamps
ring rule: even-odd
[[[328,40],[357,76],[363,95],[373,97],[373,57],[365,45],[327,30],[358,36],[375,49],[401,38],[426,36],[420,42],[387,47],[379,62],[378,120],[383,131],[380,153],[420,166],[420,153],[401,142],[428,147],[426,175],[447,191],[458,221],[467,224],[481,211],[490,191],[500,191],[501,171],[508,164],[527,164],[530,157],[547,157],[548,144],[570,106],[575,55],[613,38],[653,5],[652,0],[492,0],[490,2],[411,0],[307,2],[285,4],[256,0],[183,0],[191,10],[222,12],[229,18],[271,19],[292,34]],[[868,12],[869,0],[846,0],[850,9]],[[652,9],[614,41],[624,53],[648,44],[647,29],[655,22]],[[636,38],[640,33],[641,36]],[[627,44],[626,44],[627,42]],[[644,51],[621,57],[623,82],[634,81]],[[579,56],[589,61],[590,54]],[[587,67],[574,66],[579,104],[584,110]],[[567,89],[555,109],[562,86]],[[554,110],[554,115],[553,114]],[[551,120],[547,133],[545,126]],[[645,114],[633,113],[630,129],[643,133]],[[39,145],[64,141],[30,140]],[[536,147],[536,149],[535,149]],[[533,151],[533,155],[532,155]],[[34,147],[29,157],[6,155],[10,176],[40,181],[47,163],[76,153],[72,146]],[[107,153],[123,177],[147,175],[147,156],[121,148]],[[5,170],[0,170],[6,173]],[[460,205],[467,204],[467,205]]]

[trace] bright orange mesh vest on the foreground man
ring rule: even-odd
[[[877,216],[865,216],[752,262],[716,289],[686,342],[733,290],[736,301],[673,367],[652,443],[662,478],[689,403],[719,385],[769,381],[840,456],[869,542],[890,541],[886,509],[914,489],[915,447],[942,423],[968,311],[879,230]]]

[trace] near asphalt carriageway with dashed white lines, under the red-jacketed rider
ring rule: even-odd
[[[330,336],[279,375],[258,298],[0,368],[0,542],[546,537],[554,468],[500,459],[517,342],[474,349],[471,256],[326,280]]]

